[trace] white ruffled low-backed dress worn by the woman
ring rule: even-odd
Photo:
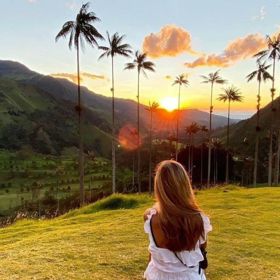
[[[180,260],[188,266],[186,267],[178,260],[172,251],[156,246],[150,227],[151,217],[156,213],[156,209],[151,209],[148,220],[144,223],[144,230],[149,235],[150,239],[148,251],[151,253],[151,261],[144,272],[144,278],[147,280],[206,280],[203,269],[201,269],[199,274],[199,262],[203,260],[199,244],[204,243],[204,239],[200,237],[194,250],[177,253]],[[206,235],[212,230],[212,226],[208,217],[202,213],[201,217],[204,224],[206,239]],[[190,266],[192,268],[190,268]]]

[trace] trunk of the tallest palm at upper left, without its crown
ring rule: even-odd
[[[81,129],[81,88],[80,88],[80,64],[79,64],[79,38],[77,40],[77,68],[78,68],[78,134],[79,134],[79,160],[80,160],[80,204],[85,202],[84,198],[84,158],[83,158],[83,134]]]

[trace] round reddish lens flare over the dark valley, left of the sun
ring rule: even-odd
[[[134,127],[130,124],[122,127],[118,134],[118,141],[126,150],[137,149],[137,135],[133,134]],[[140,137],[140,146],[142,145],[142,139]]]

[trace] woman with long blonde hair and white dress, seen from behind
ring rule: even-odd
[[[206,280],[199,262],[207,245],[210,220],[195,202],[184,167],[174,160],[158,164],[155,176],[157,203],[144,213],[149,235],[147,280]]]

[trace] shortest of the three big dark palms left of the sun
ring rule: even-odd
[[[137,86],[137,146],[138,146],[138,188],[139,192],[141,192],[141,159],[140,159],[140,122],[139,122],[139,76],[140,72],[148,78],[146,74],[146,70],[155,72],[155,64],[151,61],[147,61],[148,52],[141,53],[139,50],[135,52],[135,58],[133,62],[125,64],[124,70],[132,70],[137,68],[138,72],[138,86]]]

